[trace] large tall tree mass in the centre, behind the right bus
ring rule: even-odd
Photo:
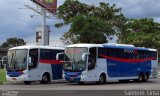
[[[66,0],[57,9],[57,16],[64,22],[56,24],[56,27],[71,24],[63,37],[73,43],[106,43],[107,37],[116,34],[114,28],[123,30],[126,19],[120,11],[121,8],[115,8],[115,4],[110,6],[101,2],[99,6],[93,6]]]

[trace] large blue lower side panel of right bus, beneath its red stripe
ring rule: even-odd
[[[151,61],[141,63],[126,63],[107,60],[107,72],[109,77],[138,76],[140,72],[151,73]]]

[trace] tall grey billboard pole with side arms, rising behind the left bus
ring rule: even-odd
[[[49,18],[47,16],[47,12],[54,14],[56,12],[57,8],[57,0],[29,0],[35,3],[40,8],[41,11],[33,8],[30,5],[25,5],[28,9],[31,9],[32,11],[40,14],[42,16],[42,25],[40,28],[38,28],[38,32],[36,32],[36,44],[37,45],[49,45],[49,26],[46,26],[46,18]]]

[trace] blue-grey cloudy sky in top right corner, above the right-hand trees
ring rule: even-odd
[[[118,7],[128,18],[155,18],[160,17],[159,0],[110,0]]]

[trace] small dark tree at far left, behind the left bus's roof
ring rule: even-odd
[[[15,46],[25,45],[26,42],[21,38],[8,38],[6,42],[2,43],[1,48],[11,48]]]

